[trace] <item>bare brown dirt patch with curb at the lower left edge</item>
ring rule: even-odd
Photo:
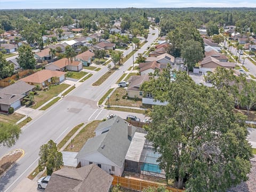
[[[9,167],[11,167],[23,154],[21,149],[10,151],[0,159],[0,175],[2,175]]]

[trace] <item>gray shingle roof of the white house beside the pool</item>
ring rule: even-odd
[[[102,122],[99,126],[101,129],[104,126],[109,126],[110,130],[97,137],[89,139],[83,148],[79,151],[76,158],[82,158],[86,154],[97,152],[108,158],[117,166],[122,167],[125,160],[125,155],[129,149],[131,138],[128,138],[128,124],[121,117],[114,117]],[[136,131],[136,127],[132,126],[132,137]]]

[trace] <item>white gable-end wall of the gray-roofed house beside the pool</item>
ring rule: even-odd
[[[87,154],[83,157],[77,158],[77,163],[81,162],[81,166],[89,165],[89,162],[92,162],[93,164],[101,164],[101,169],[106,171],[107,173],[114,174],[117,176],[122,175],[124,171],[124,166],[118,167],[115,163],[111,162],[107,157],[103,156],[102,154],[96,152],[93,154]],[[115,171],[110,171],[111,167],[115,167]]]

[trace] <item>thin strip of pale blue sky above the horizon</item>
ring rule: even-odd
[[[256,0],[0,0],[0,9],[86,9],[125,7],[256,7]]]

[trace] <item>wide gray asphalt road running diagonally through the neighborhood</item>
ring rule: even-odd
[[[155,33],[155,35],[153,36],[152,33]],[[158,29],[153,30],[150,28],[148,42],[134,54],[134,61],[138,53],[143,53],[157,36]],[[131,50],[132,47],[125,51],[124,55]],[[13,149],[20,148],[25,150],[25,156],[0,178],[0,191],[12,191],[21,179],[27,177],[35,169],[38,162],[39,147],[47,143],[47,141],[52,139],[58,143],[77,124],[87,123],[94,119],[103,119],[108,114],[113,113],[113,111],[99,108],[97,101],[111,86],[114,86],[118,78],[122,76],[123,71],[127,70],[130,66],[132,66],[132,57],[104,83],[94,87],[91,84],[108,70],[107,67],[102,68],[67,97],[44,111],[40,117],[33,119],[29,125],[23,127],[22,134],[15,146],[12,148],[0,147],[0,157]],[[123,118],[127,115],[127,113],[117,111],[115,111],[115,114]],[[138,117],[143,119],[142,115],[138,115]]]

